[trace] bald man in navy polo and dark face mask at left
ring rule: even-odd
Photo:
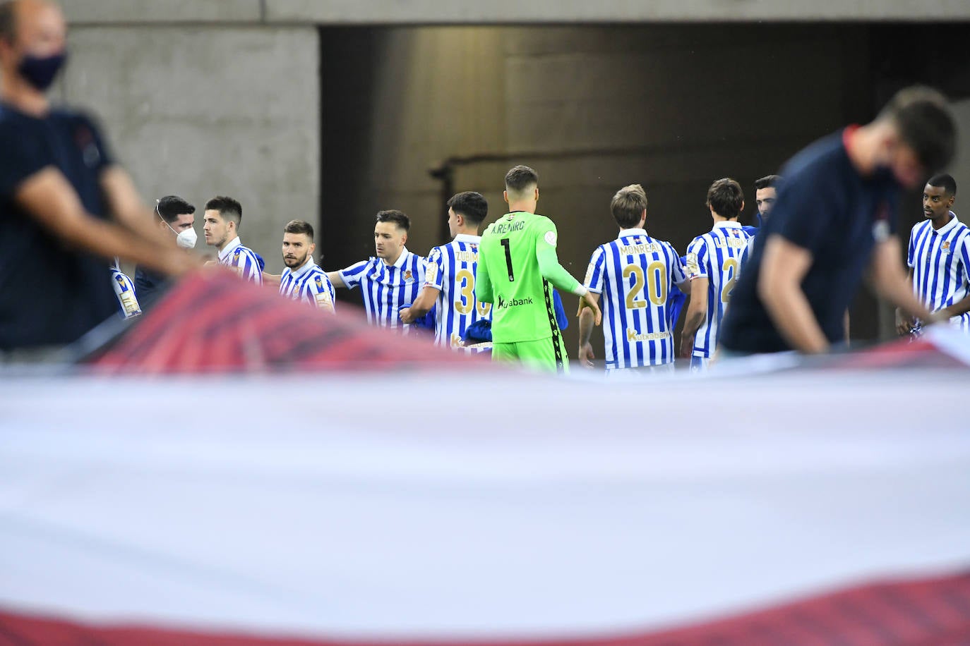
[[[172,275],[195,264],[155,229],[94,122],[50,107],[65,36],[55,5],[0,2],[0,358],[112,318],[115,256]]]

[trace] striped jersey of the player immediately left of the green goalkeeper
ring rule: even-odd
[[[475,298],[475,268],[481,237],[459,233],[448,244],[428,254],[425,282],[438,291],[435,343],[461,346],[465,330],[480,319],[492,320],[492,304]]]

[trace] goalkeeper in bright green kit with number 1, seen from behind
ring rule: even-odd
[[[538,174],[517,166],[505,174],[509,213],[488,227],[478,246],[475,297],[492,303],[492,358],[565,372],[569,359],[556,323],[552,289],[582,298],[599,324],[599,306],[556,256],[556,225],[535,214]]]

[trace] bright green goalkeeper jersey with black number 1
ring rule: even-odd
[[[492,341],[518,343],[559,334],[552,288],[577,293],[579,281],[556,256],[556,225],[544,215],[506,213],[482,234],[475,297],[492,303]]]

